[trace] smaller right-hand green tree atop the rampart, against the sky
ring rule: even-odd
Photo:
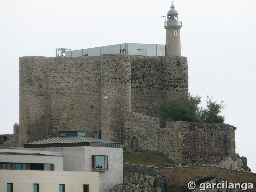
[[[212,98],[207,95],[206,109],[201,109],[200,111],[201,120],[205,123],[223,123],[225,116],[219,115],[219,113],[226,106],[223,104],[223,101],[217,103],[216,101],[212,101]]]

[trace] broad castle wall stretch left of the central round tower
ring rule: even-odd
[[[100,130],[100,57],[20,57],[20,145]]]

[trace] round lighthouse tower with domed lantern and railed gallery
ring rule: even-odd
[[[166,29],[165,56],[181,56],[180,28],[182,22],[179,21],[179,13],[174,8],[172,4],[171,9],[167,12],[167,21],[164,22],[164,28]]]

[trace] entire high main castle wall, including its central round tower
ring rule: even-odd
[[[159,117],[159,100],[188,93],[187,57],[20,57],[19,88],[20,146],[71,130],[120,141],[121,109]]]

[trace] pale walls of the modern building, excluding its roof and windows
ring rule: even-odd
[[[94,155],[107,156],[108,169],[93,169],[92,156]],[[122,148],[82,146],[0,149],[0,163],[2,163],[2,167],[0,167],[0,178],[5,178],[5,174],[18,175],[17,177],[13,177],[17,178],[18,180],[10,180],[12,176],[8,176],[8,181],[1,179],[0,191],[6,191],[6,184],[13,183],[14,192],[15,188],[22,188],[22,190],[19,190],[20,192],[26,191],[28,186],[28,188],[31,187],[31,190],[27,190],[27,192],[29,192],[33,191],[33,183],[38,183],[40,186],[40,192],[44,191],[44,189],[47,191],[46,188],[48,188],[48,191],[56,191],[59,184],[65,184],[66,191],[83,192],[83,185],[89,183],[90,192],[97,190],[100,192],[105,192],[109,191],[109,189],[114,187],[116,184],[123,182]],[[54,164],[54,171],[2,170],[3,163]],[[19,175],[24,175],[24,177]],[[79,182],[77,181],[78,183],[76,183],[77,190],[73,190],[72,187],[72,190],[68,190],[68,186],[72,186],[72,182],[69,181],[71,176],[72,180],[73,176],[74,178],[77,177],[82,179],[78,180]],[[54,177],[62,179],[55,180],[56,178]],[[95,177],[98,178],[95,179]],[[35,180],[31,180],[31,178]],[[97,183],[91,182],[91,178],[94,178],[95,182]],[[50,187],[47,185],[47,183],[52,183],[50,185],[50,187],[53,187],[52,190],[49,190]],[[99,186],[98,189],[95,187],[97,184]],[[93,190],[91,185],[94,186]],[[2,188],[4,190],[2,190]]]

